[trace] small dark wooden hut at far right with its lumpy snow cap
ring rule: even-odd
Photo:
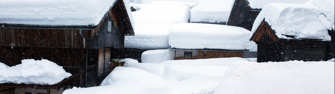
[[[266,5],[255,19],[250,35],[250,40],[258,45],[257,61],[334,58],[334,23],[329,20],[334,16],[324,12],[311,4]]]

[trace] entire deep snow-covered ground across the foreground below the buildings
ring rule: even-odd
[[[63,94],[333,94],[332,61],[255,62],[256,58],[211,58],[138,63],[123,59],[100,86]]]

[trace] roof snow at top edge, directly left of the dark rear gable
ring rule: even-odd
[[[200,0],[191,9],[191,22],[227,22],[234,0]]]

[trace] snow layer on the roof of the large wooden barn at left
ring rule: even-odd
[[[0,0],[0,23],[98,25],[116,0]],[[128,0],[123,0],[126,7]],[[127,8],[127,10],[130,7]],[[131,11],[128,12],[132,20]],[[134,25],[133,25],[134,26]]]

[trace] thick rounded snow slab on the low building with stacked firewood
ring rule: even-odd
[[[250,49],[250,31],[241,27],[205,23],[178,23],[169,36],[171,48]],[[255,44],[255,43],[253,43]],[[256,45],[252,45],[256,48]]]

